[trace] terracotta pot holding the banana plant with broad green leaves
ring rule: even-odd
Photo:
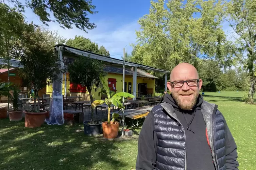
[[[103,130],[103,137],[107,139],[114,139],[118,135],[118,128],[119,128],[119,122],[115,121],[110,122],[110,124],[107,124],[107,122],[102,122],[102,130]]]

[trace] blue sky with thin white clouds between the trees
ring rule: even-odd
[[[21,1],[24,4],[24,0]],[[132,51],[131,43],[136,43],[135,30],[139,30],[139,18],[149,14],[150,0],[92,0],[96,6],[97,14],[89,15],[90,22],[94,22],[97,28],[84,31],[76,28],[63,29],[58,23],[50,22],[48,29],[58,30],[58,33],[64,38],[74,38],[75,35],[85,36],[91,41],[103,45],[109,50],[110,56],[121,59],[123,48],[127,52]],[[35,24],[42,25],[39,18],[30,8],[25,9],[26,20],[33,21]],[[231,28],[224,23],[223,29],[230,34]]]

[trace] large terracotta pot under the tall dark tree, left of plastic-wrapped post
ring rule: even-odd
[[[23,111],[25,113],[25,127],[35,128],[41,127],[45,121],[45,114],[47,111],[40,110],[40,112],[28,112],[27,110]]]

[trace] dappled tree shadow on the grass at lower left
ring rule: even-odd
[[[82,129],[82,126],[46,124],[30,129],[24,127],[24,120],[0,120],[0,169],[95,169],[95,166],[119,169],[126,166],[117,156],[120,149],[115,143],[118,141],[85,136]]]

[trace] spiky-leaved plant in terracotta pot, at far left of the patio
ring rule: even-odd
[[[13,110],[7,111],[10,121],[20,121],[22,119],[22,110],[19,108],[19,94],[21,92],[19,86],[12,86],[11,90],[13,94],[9,93],[9,101],[13,106]]]

